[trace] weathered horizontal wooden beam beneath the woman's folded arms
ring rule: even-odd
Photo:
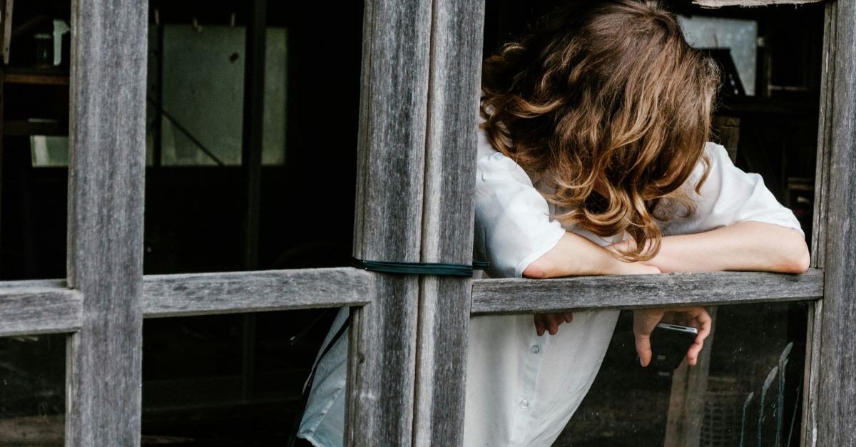
[[[473,281],[472,314],[547,313],[581,309],[716,306],[817,300],[823,270],[801,275],[719,271],[562,279]]]

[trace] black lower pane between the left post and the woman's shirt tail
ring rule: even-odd
[[[285,444],[335,315],[255,314],[249,337],[249,315],[146,319],[143,444]]]

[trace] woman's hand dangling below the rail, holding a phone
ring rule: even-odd
[[[687,350],[687,362],[695,365],[698,354],[704,347],[704,339],[710,335],[713,320],[704,307],[681,307],[673,309],[637,309],[633,311],[633,335],[636,337],[636,352],[639,363],[647,367],[651,363],[651,332],[661,321],[675,325],[692,326],[698,329],[695,342]]]

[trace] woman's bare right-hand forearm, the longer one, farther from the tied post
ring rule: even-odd
[[[663,237],[645,264],[672,271],[779,271],[808,269],[808,247],[799,232],[776,224],[739,222],[695,235]]]

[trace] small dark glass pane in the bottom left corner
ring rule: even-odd
[[[62,334],[0,338],[0,445],[62,445]]]

